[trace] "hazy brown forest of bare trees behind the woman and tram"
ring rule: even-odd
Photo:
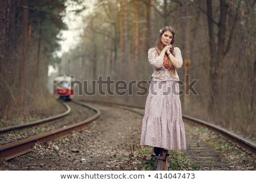
[[[185,91],[180,95],[183,114],[255,140],[254,0],[86,1],[93,5],[90,11],[84,2],[1,1],[0,126],[8,125],[16,108],[26,118],[33,106],[40,110],[40,104],[52,104],[47,84],[57,75],[85,80],[88,90],[93,88],[93,80],[107,80],[108,76],[114,82],[142,81],[148,88],[153,69],[147,51],[155,47],[159,30],[172,26],[174,46],[183,57],[183,66],[177,71],[184,83],[180,84]],[[58,57],[60,31],[68,27],[63,22],[68,6],[79,7],[74,10],[77,15],[88,13],[83,17],[79,43]],[[48,77],[48,65],[58,72]],[[123,96],[97,92],[76,97],[144,106],[146,94],[136,94],[139,88],[135,85],[129,88],[131,94]]]

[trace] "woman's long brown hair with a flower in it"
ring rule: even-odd
[[[171,54],[173,56],[175,56],[175,53],[174,53],[174,42],[175,42],[175,30],[173,27],[171,26],[165,26],[163,27],[161,30],[160,30],[160,34],[159,34],[159,37],[158,37],[158,40],[156,41],[156,47],[161,50],[161,39],[162,39],[162,35],[164,34],[164,32],[166,31],[170,31],[172,33],[172,41],[171,41],[171,44],[172,44],[172,48],[170,50]],[[166,53],[167,54],[167,53]],[[167,56],[168,57],[168,56]],[[169,64],[170,64],[170,69],[171,69],[171,76],[174,76],[175,75],[175,69],[174,69],[174,65],[172,65],[171,63],[171,60],[169,59],[168,57],[168,61],[169,61]]]

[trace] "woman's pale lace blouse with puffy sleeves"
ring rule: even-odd
[[[179,67],[175,68],[175,75],[171,76],[171,70],[163,67],[163,59],[158,56],[155,48],[148,49],[148,61],[154,68],[154,73],[152,74],[152,78],[155,81],[160,80],[176,80],[179,81],[179,76],[177,75],[176,69],[181,68],[183,64],[183,60],[181,57],[181,52],[178,47],[174,48],[175,58],[178,60]],[[160,69],[159,69],[160,68]]]

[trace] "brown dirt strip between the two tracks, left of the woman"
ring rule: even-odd
[[[2,170],[136,170],[142,116],[131,111],[92,104],[101,110],[87,130],[63,139],[36,144],[31,152],[2,163]],[[77,150],[77,152],[75,152]]]

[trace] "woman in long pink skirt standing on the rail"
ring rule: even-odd
[[[186,149],[176,72],[183,60],[180,49],[173,46],[174,28],[166,26],[159,32],[156,47],[148,50],[154,73],[145,106],[141,145],[153,146],[158,159],[165,160],[168,150]]]

